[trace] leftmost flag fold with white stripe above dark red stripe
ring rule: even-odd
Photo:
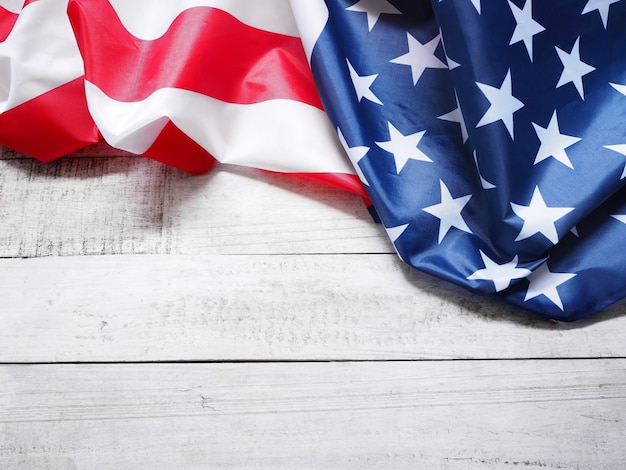
[[[99,140],[63,2],[0,2],[0,142],[50,161]]]

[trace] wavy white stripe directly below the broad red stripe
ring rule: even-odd
[[[347,173],[354,169],[326,113],[297,101],[224,103],[176,88],[139,102],[109,98],[86,82],[91,115],[109,145],[141,154],[171,120],[223,163],[271,171]]]

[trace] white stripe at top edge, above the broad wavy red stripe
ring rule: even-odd
[[[209,6],[239,21],[274,33],[298,36],[289,0],[109,0],[124,27],[134,36],[152,40],[165,34],[184,10]]]

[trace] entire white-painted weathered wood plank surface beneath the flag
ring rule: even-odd
[[[111,154],[0,152],[0,469],[626,468],[625,304],[558,325],[355,196]]]

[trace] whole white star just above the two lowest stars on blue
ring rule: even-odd
[[[541,233],[553,244],[559,241],[559,234],[554,223],[574,210],[573,207],[546,206],[539,186],[535,186],[530,205],[520,206],[511,203],[511,208],[520,219],[524,220],[522,230],[515,239],[516,242],[530,238],[536,233]]]

